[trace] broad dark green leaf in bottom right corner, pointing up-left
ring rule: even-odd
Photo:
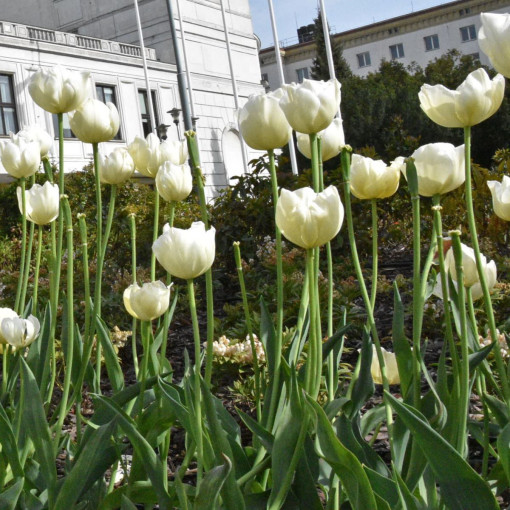
[[[391,406],[411,431],[429,462],[448,508],[496,510],[499,508],[487,483],[416,411],[385,392]]]

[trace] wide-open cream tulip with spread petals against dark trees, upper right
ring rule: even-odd
[[[436,124],[444,127],[468,127],[479,124],[496,113],[505,94],[505,78],[490,79],[484,69],[477,69],[457,87],[422,85],[418,97],[421,109]]]

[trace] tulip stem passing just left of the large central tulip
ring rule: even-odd
[[[269,173],[271,175],[271,189],[273,193],[273,208],[276,215],[276,207],[278,205],[278,178],[276,176],[276,165],[274,158],[274,150],[267,151],[269,156]],[[276,407],[280,399],[278,385],[280,383],[280,353],[282,351],[283,338],[283,262],[282,262],[282,233],[275,224],[275,248],[276,248],[276,335],[274,352],[277,356],[274,360],[274,372],[271,392],[271,401],[269,404],[269,414],[266,426],[270,430],[276,415]]]

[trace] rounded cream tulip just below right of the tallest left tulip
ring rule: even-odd
[[[113,103],[87,98],[74,112],[69,113],[69,125],[85,143],[111,140],[118,132],[119,112]]]

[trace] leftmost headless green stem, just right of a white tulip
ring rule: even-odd
[[[62,433],[62,426],[64,425],[64,419],[67,415],[67,403],[69,400],[69,392],[71,389],[71,375],[73,367],[73,356],[74,356],[74,251],[73,251],[73,223],[71,218],[71,208],[69,207],[69,201],[66,195],[62,195],[60,198],[61,209],[65,215],[66,223],[66,240],[67,240],[67,350],[64,349],[65,356],[65,371],[64,371],[64,389],[62,391],[62,400],[60,402],[60,413],[55,429],[55,439],[53,448],[55,455],[57,454],[60,435]],[[62,339],[63,343],[63,339]],[[78,388],[81,391],[81,387]]]

